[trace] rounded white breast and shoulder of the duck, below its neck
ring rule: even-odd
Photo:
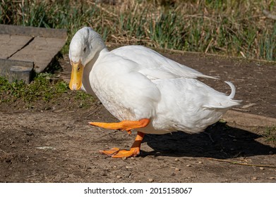
[[[134,61],[112,53],[93,67],[90,80],[95,94],[119,120],[150,118],[160,101],[160,90],[138,70]]]

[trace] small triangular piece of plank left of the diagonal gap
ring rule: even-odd
[[[0,34],[0,58],[7,59],[16,51],[23,48],[32,37],[18,36],[10,34]]]

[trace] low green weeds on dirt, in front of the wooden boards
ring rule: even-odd
[[[64,94],[67,94],[64,95]],[[69,94],[71,96],[69,96]],[[34,102],[59,104],[59,98],[73,99],[80,108],[88,108],[95,99],[84,91],[70,91],[68,84],[49,73],[41,73],[30,84],[23,81],[9,83],[5,77],[0,77],[0,104],[23,101],[23,106],[32,106]],[[70,97],[70,98],[69,98]],[[25,104],[24,104],[25,103]]]

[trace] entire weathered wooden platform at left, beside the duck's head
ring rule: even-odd
[[[0,75],[30,82],[43,72],[66,43],[67,30],[0,25]]]

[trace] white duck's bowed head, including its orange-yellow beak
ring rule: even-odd
[[[69,58],[72,65],[69,84],[71,90],[80,89],[85,65],[92,61],[93,58],[97,58],[100,51],[105,48],[102,37],[92,28],[83,27],[76,32],[71,40],[69,49]]]

